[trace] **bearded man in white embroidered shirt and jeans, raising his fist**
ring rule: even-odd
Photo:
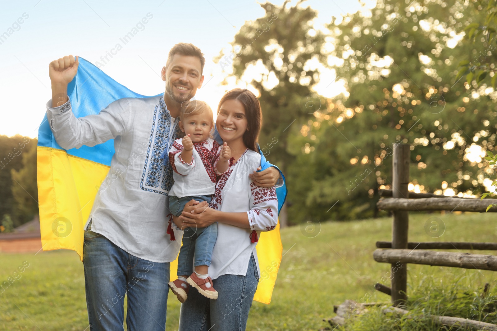
[[[161,330],[166,325],[169,263],[180,241],[166,233],[172,170],[161,155],[177,138],[181,104],[202,86],[205,59],[200,49],[180,43],[169,52],[162,79],[164,95],[124,98],[98,115],[76,118],[67,95],[78,58],[66,56],[49,65],[52,100],[47,119],[57,143],[65,148],[94,146],[114,139],[115,154],[85,225],[83,265],[90,330],[123,330],[124,295],[128,295],[128,330]],[[136,157],[135,151],[148,146]],[[134,155],[133,157],[131,155]],[[271,187],[279,171],[250,174]],[[194,202],[185,207],[193,209]],[[181,237],[181,221],[173,231]]]

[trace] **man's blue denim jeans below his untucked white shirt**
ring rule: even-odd
[[[91,331],[166,329],[169,263],[137,258],[90,230],[84,231],[83,266]]]

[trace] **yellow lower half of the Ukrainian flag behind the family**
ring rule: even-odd
[[[38,204],[44,251],[70,249],[83,261],[84,224],[109,168],[68,155],[62,149],[37,147]],[[279,222],[274,230],[260,233],[256,251],[260,275],[254,300],[269,304],[283,251]],[[170,264],[171,280],[176,278],[177,265],[176,258]]]

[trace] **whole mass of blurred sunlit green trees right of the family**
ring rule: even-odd
[[[267,158],[287,176],[291,223],[377,216],[396,142],[412,145],[411,179],[421,192],[485,192],[497,93],[456,76],[468,52],[486,48],[460,41],[460,32],[487,12],[475,2],[379,0],[321,31],[302,2],[261,4],[265,16],[232,43],[233,75],[260,91],[261,148],[278,139]],[[251,65],[260,75],[247,78]],[[327,69],[346,89],[328,99],[315,90]]]

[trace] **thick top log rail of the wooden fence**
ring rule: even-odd
[[[423,198],[405,199],[388,198],[380,199],[376,204],[383,210],[449,210],[449,211],[477,211],[485,212],[487,207],[496,199],[470,199],[470,198]],[[497,212],[497,205],[492,206],[488,211]]]

